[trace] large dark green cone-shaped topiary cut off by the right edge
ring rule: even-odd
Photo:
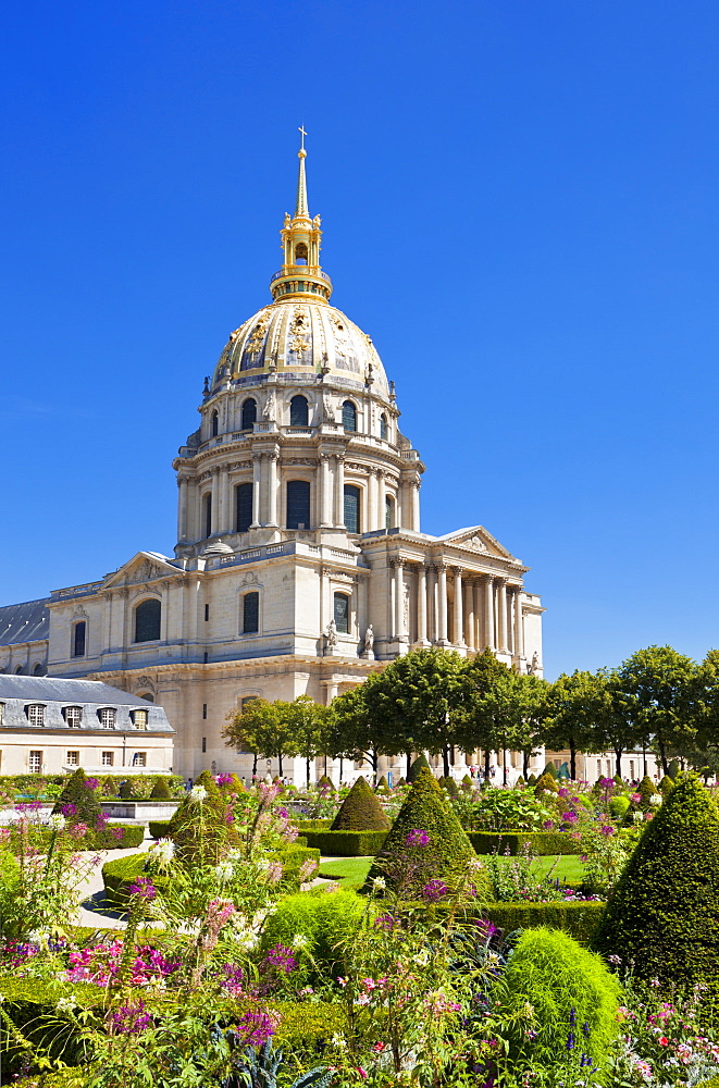
[[[719,996],[719,809],[694,776],[646,827],[607,904],[595,947],[665,989]]]

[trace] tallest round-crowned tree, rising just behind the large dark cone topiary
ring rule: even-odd
[[[653,738],[665,775],[668,754],[693,749],[701,718],[698,683],[696,663],[671,646],[637,650],[617,670],[615,690],[634,738]]]

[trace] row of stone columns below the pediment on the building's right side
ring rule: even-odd
[[[504,576],[393,558],[388,599],[391,641],[524,656],[522,588]]]

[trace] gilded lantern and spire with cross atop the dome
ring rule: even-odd
[[[305,128],[300,128],[301,146],[297,152],[299,170],[297,174],[297,199],[295,215],[285,214],[285,222],[280,232],[284,262],[278,272],[272,276],[270,292],[273,301],[285,299],[312,299],[328,301],[332,295],[332,281],[320,268],[320,247],[322,231],[320,217],[310,219],[307,201],[307,175],[305,171]]]

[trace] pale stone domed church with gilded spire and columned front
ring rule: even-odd
[[[271,301],[231,333],[173,462],[175,554],[0,609],[1,671],[160,704],[186,777],[249,772],[220,735],[244,701],[330,703],[410,648],[489,646],[542,675],[528,568],[482,526],[421,530],[424,465],[372,339],[331,304],[303,146],[281,237]]]

